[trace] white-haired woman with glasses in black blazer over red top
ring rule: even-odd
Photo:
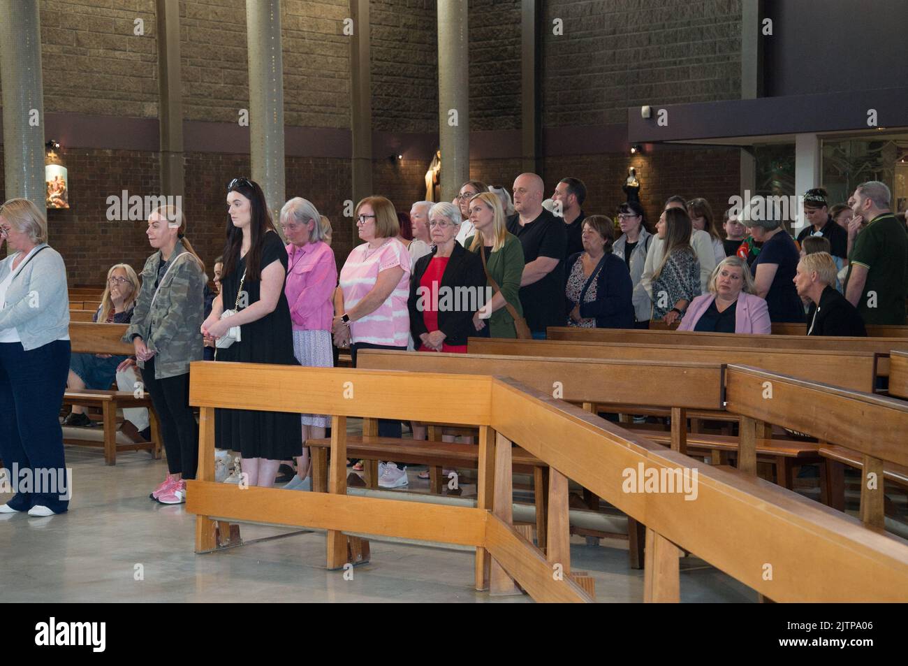
[[[482,260],[457,242],[460,223],[454,204],[435,204],[429,210],[435,247],[417,260],[407,302],[410,333],[414,344],[419,341],[419,352],[467,353],[467,338],[476,331],[473,314],[485,304]]]

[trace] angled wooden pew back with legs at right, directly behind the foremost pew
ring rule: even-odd
[[[816,437],[821,453],[826,446],[846,445],[850,456],[862,461],[861,520],[884,528],[883,479],[886,464],[895,474],[908,472],[908,404],[872,393],[847,391],[837,386],[767,373],[747,366],[729,365],[725,378],[726,409],[745,418],[741,422],[739,467],[755,466],[756,445],[765,424],[792,428]],[[833,452],[830,457],[842,460]],[[830,495],[839,491],[829,487]],[[835,502],[834,502],[835,503]]]

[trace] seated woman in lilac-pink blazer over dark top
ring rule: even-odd
[[[697,296],[678,331],[772,333],[766,302],[754,294],[754,280],[741,257],[725,257],[709,280],[709,293]]]

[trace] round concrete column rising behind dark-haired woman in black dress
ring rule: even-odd
[[[278,215],[286,201],[281,0],[246,0],[246,40],[252,180],[262,185],[280,233]]]

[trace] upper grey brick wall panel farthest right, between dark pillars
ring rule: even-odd
[[[563,35],[553,35],[553,21]],[[736,99],[740,0],[544,3],[543,123],[627,122],[627,107]]]

